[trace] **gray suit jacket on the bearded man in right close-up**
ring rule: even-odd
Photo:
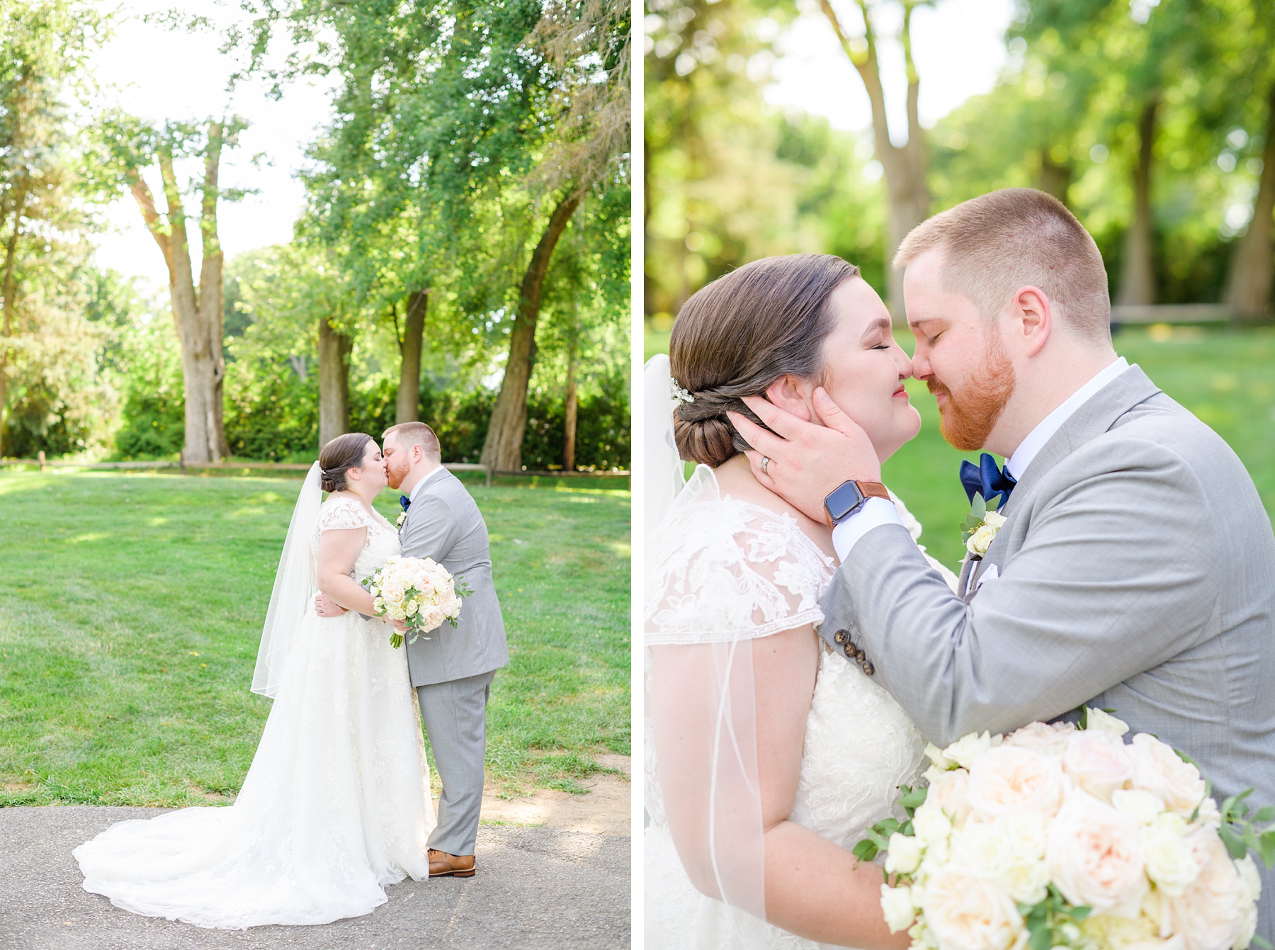
[[[845,631],[838,652],[862,650],[940,746],[1113,708],[1195,759],[1219,802],[1252,787],[1275,805],[1275,536],[1230,448],[1133,366],[1046,442],[1003,514],[965,598],[904,528],[872,529],[820,634]]]

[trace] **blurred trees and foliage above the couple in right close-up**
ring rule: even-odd
[[[885,263],[903,233],[1006,186],[1072,209],[1107,260],[1114,303],[1271,319],[1275,3],[1019,0],[998,82],[923,128],[912,22],[941,4],[648,0],[649,349],[687,296],[769,254],[841,255],[899,315]],[[821,17],[853,64],[867,130],[768,103],[802,14]],[[907,71],[907,126],[889,131],[884,33]]]

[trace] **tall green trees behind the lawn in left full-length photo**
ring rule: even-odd
[[[242,120],[107,111],[113,6],[0,0],[0,455],[309,460],[419,418],[446,462],[629,468],[629,5],[237,8],[168,19],[232,83],[325,78],[332,121],[292,240],[226,258]],[[94,260],[121,195],[167,292]]]

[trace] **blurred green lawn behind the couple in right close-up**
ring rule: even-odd
[[[904,330],[898,338],[910,353],[912,337]],[[667,348],[668,334],[648,329],[648,358]],[[1275,515],[1275,328],[1130,328],[1117,333],[1116,351],[1227,440]],[[977,460],[978,453],[958,453],[942,440],[924,384],[910,380],[908,391],[921,411],[921,435],[885,464],[885,479],[921,519],[929,553],[955,567],[964,555],[959,525],[969,511],[956,473],[961,458]]]

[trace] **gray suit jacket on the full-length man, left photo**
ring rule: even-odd
[[[421,488],[399,529],[404,557],[432,557],[474,592],[460,602],[460,618],[407,644],[413,686],[500,669],[509,663],[505,618],[491,579],[487,524],[469,492],[450,472]]]

